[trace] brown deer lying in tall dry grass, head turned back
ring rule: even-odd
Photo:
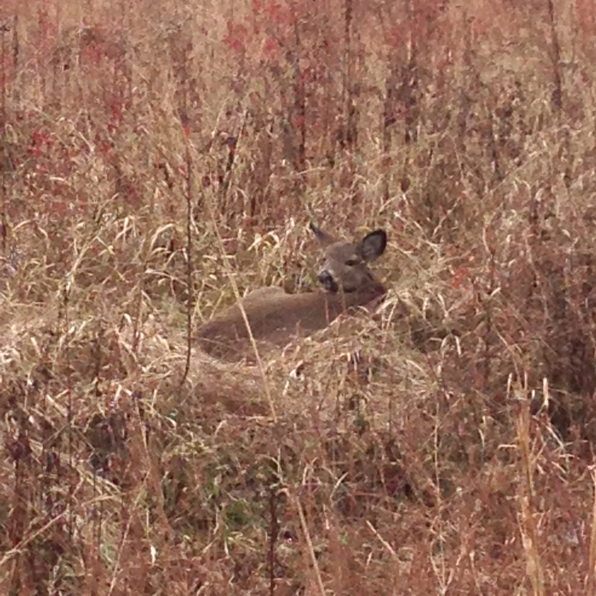
[[[386,288],[368,268],[384,253],[387,234],[376,229],[349,243],[310,225],[324,254],[318,274],[322,288],[289,294],[281,287],[262,287],[241,299],[254,340],[284,346],[294,336],[324,329],[343,312],[381,300]],[[198,343],[217,359],[235,361],[250,352],[250,338],[238,303],[204,323]]]

